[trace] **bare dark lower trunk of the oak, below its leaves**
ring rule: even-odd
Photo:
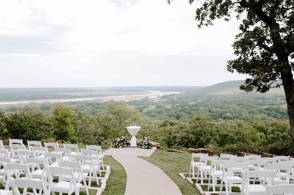
[[[287,101],[287,112],[289,116],[292,140],[294,143],[294,82],[292,72],[281,73],[283,87]]]

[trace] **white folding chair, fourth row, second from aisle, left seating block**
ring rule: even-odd
[[[48,171],[47,171],[47,162],[45,159],[39,158],[25,158],[24,162],[29,165],[31,168],[31,175],[33,178],[44,179],[49,181]],[[34,168],[33,168],[34,167]],[[37,167],[37,168],[35,168]],[[43,167],[43,168],[41,168]]]

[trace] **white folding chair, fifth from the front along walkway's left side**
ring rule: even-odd
[[[55,192],[78,195],[80,193],[81,183],[76,182],[73,168],[65,167],[48,167],[49,173],[49,190],[52,194]],[[53,182],[53,175],[58,175],[58,183]],[[70,181],[64,181],[64,177],[71,177]]]

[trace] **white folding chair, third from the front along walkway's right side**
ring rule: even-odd
[[[209,191],[210,188],[210,180],[212,179],[212,188],[213,191],[216,191],[216,184],[217,184],[217,179],[220,179],[221,176],[223,175],[223,165],[225,162],[232,162],[231,160],[211,160],[211,167],[209,171],[209,179],[208,179],[208,186],[207,186],[207,191]],[[226,174],[226,172],[225,172]]]

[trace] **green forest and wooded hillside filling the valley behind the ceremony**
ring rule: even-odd
[[[184,87],[171,90],[184,93],[153,99],[2,105],[0,136],[6,142],[18,138],[109,147],[118,136],[129,136],[126,127],[135,122],[142,127],[138,138],[150,137],[170,149],[293,155],[283,89],[246,93],[238,87],[242,82]]]

